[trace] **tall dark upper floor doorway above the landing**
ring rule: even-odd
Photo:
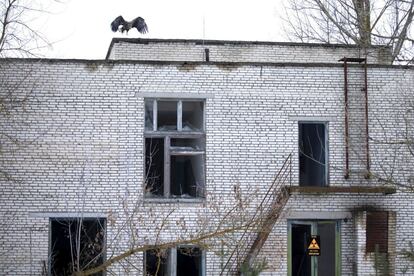
[[[299,123],[299,185],[326,186],[327,132],[325,123]]]

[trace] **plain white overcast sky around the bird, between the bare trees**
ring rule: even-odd
[[[46,8],[45,8],[46,9]],[[104,59],[113,37],[281,41],[282,0],[63,0],[47,7],[46,57]],[[141,16],[149,33],[113,33],[110,23]]]

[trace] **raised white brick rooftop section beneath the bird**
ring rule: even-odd
[[[107,58],[110,60],[205,61],[220,62],[320,62],[338,63],[343,57],[363,57],[357,47],[344,45],[214,41],[114,39]],[[390,51],[374,47],[368,50],[368,62],[390,64]]]

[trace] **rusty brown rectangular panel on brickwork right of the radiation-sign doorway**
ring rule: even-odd
[[[388,252],[388,212],[367,212],[366,251]]]

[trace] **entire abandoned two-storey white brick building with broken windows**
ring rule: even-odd
[[[0,71],[1,275],[414,274],[386,47],[117,38]]]

